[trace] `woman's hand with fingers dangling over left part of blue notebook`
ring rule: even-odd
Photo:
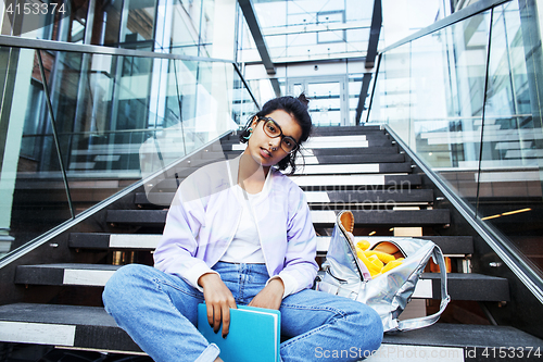
[[[204,289],[207,322],[215,333],[218,332],[223,322],[223,338],[225,338],[230,327],[230,308],[238,308],[232,292],[215,273],[203,274],[198,279],[198,284]]]

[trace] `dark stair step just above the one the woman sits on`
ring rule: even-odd
[[[121,266],[104,264],[18,265],[15,283],[24,285],[103,287]],[[440,299],[440,275],[422,273],[413,298]],[[447,274],[452,300],[508,301],[509,287],[505,278],[481,274]]]

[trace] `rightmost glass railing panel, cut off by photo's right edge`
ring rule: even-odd
[[[531,111],[523,35],[517,2],[494,9],[477,211],[541,274],[543,133]]]

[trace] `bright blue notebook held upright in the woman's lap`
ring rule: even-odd
[[[210,344],[220,348],[225,362],[278,362],[281,337],[281,313],[272,309],[238,305],[230,309],[230,330],[223,338],[207,322],[205,304],[198,304],[198,330]]]

